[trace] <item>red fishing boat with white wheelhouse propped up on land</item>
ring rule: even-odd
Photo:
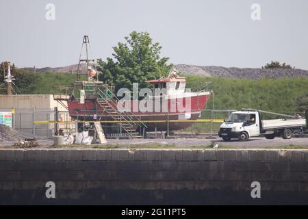
[[[80,62],[79,62],[80,64]],[[88,62],[87,62],[88,64]],[[169,131],[190,127],[201,115],[211,92],[186,89],[185,77],[172,68],[168,77],[145,81],[153,89],[142,90],[131,99],[114,92],[114,87],[98,80],[97,72],[88,66],[88,80],[77,76],[72,87],[54,94],[54,99],[67,106],[70,117],[82,121],[100,121],[105,133],[127,133],[140,136],[146,131]],[[133,91],[134,92],[134,91]],[[127,96],[126,96],[127,97]],[[66,104],[63,103],[66,101]]]

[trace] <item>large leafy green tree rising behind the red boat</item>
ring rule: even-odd
[[[107,57],[105,62],[98,60],[97,70],[101,81],[115,86],[116,91],[120,88],[131,89],[135,82],[139,83],[139,88],[145,88],[149,85],[144,81],[168,73],[169,58],[160,56],[162,47],[158,42],[153,43],[148,33],[133,31],[125,37],[125,41],[113,47],[113,58]]]

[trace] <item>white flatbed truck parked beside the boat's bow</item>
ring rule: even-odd
[[[262,120],[261,112],[283,116],[283,118]],[[242,109],[242,111],[233,112],[220,125],[218,136],[224,141],[229,141],[232,138],[246,141],[249,138],[259,136],[264,136],[266,139],[274,139],[275,137],[290,139],[294,133],[303,132],[304,129],[307,129],[307,122],[304,118],[300,118],[300,116]]]

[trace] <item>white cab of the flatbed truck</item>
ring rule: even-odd
[[[218,136],[223,140],[248,140],[250,137],[260,136],[260,130],[259,112],[237,111],[220,125]]]

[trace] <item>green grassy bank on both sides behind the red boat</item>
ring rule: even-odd
[[[82,77],[86,79],[86,76]],[[253,80],[186,75],[186,79],[187,88],[193,90],[199,90],[205,86],[206,82],[211,81],[209,89],[214,90],[216,109],[230,110],[249,107],[272,112],[295,111],[295,99],[305,95],[308,87],[307,77]],[[53,94],[55,93],[54,86],[73,85],[75,80],[76,75],[70,73],[33,73],[29,71],[25,75],[18,76],[16,83],[22,89],[23,94]],[[211,107],[212,99],[207,103],[206,109]],[[215,114],[215,118],[227,118],[227,116],[228,114],[224,112],[216,112]],[[211,114],[203,112],[201,118],[211,118]]]

